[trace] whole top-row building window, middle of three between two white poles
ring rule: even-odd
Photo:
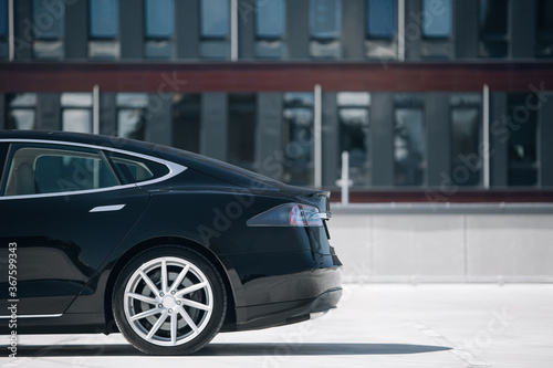
[[[342,57],[341,0],[310,0],[310,35],[312,57]]]

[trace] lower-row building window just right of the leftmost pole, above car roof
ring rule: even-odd
[[[144,140],[148,106],[146,93],[117,93],[117,137]]]

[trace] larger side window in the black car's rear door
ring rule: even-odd
[[[92,190],[117,186],[98,151],[54,145],[14,145],[4,196]]]

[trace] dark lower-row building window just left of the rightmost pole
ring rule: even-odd
[[[461,93],[450,97],[451,178],[458,186],[480,183],[481,104],[480,94]]]

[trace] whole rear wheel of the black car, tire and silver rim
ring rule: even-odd
[[[115,282],[112,308],[123,336],[137,349],[187,355],[219,333],[227,293],[220,274],[204,255],[159,245],[125,265]]]

